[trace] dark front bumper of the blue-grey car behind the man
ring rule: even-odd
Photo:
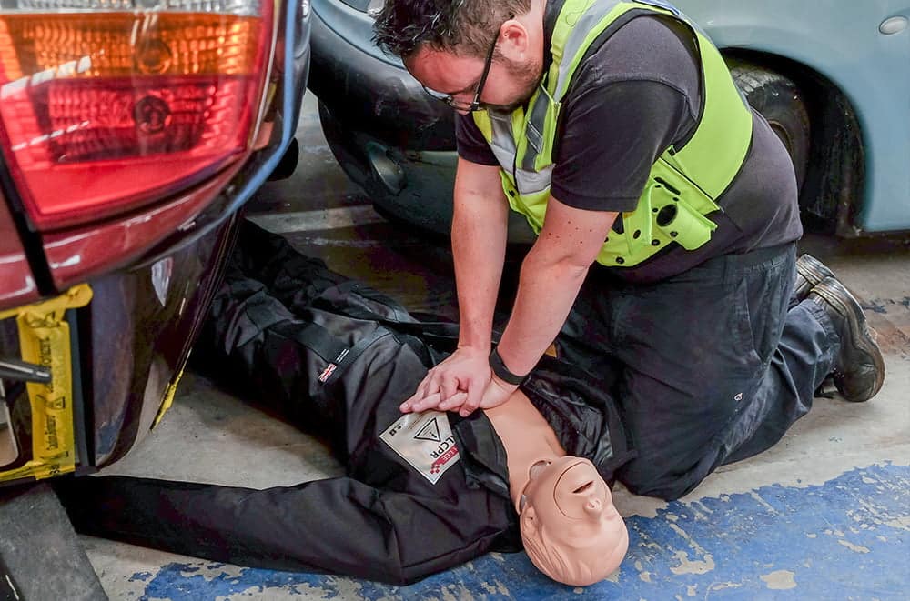
[[[371,41],[372,19],[342,2],[313,3],[309,89],[339,165],[377,209],[449,235],[455,184],[455,114]],[[402,118],[406,115],[406,118]],[[511,214],[509,240],[534,239]]]

